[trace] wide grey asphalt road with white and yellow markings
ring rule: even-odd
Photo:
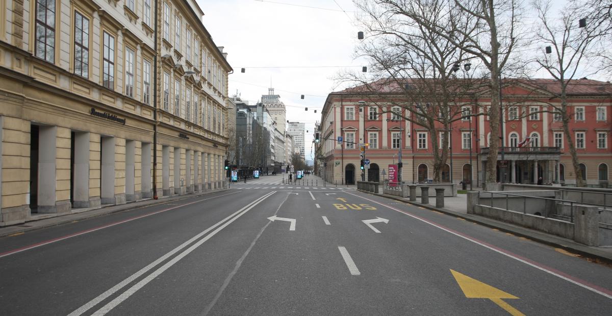
[[[0,238],[0,315],[611,314],[609,266],[280,179]]]

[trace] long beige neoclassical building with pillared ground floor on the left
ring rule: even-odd
[[[0,2],[0,226],[225,186],[232,69],[202,16],[194,0]]]

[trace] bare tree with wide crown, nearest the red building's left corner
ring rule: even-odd
[[[367,106],[376,108],[377,116],[391,112],[392,118],[407,120],[429,132],[434,180],[439,182],[449,156],[449,139],[443,137],[438,141],[438,135],[449,135],[452,123],[466,114],[461,111],[462,106],[472,100],[468,96],[466,102],[466,95],[480,84],[470,78],[473,70],[466,71],[467,79],[457,78],[460,64],[469,63],[465,52],[432,28],[444,21],[447,23],[444,27],[451,26],[447,1],[355,3],[364,12],[359,22],[368,32],[368,39],[359,46],[357,55],[370,61],[370,73],[368,76],[347,73],[342,79],[357,83],[353,91],[364,95]],[[466,34],[470,32],[465,30]],[[463,45],[466,40],[465,36],[458,41]],[[368,115],[368,109],[363,111]],[[475,116],[477,112],[466,115]]]

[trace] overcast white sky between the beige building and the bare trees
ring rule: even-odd
[[[321,119],[323,103],[332,90],[342,89],[334,87],[332,78],[343,66],[360,69],[364,65],[363,61],[353,60],[359,41],[358,30],[351,21],[353,2],[198,0],[198,3],[204,11],[204,26],[215,44],[225,47],[223,52],[228,53],[228,62],[234,68],[230,75],[230,97],[237,90],[242,100],[255,103],[267,94],[268,87],[274,87],[287,106],[287,119],[306,123],[309,131],[305,138],[306,159],[312,159],[313,130],[315,122]],[[334,67],[253,68],[292,66]],[[243,67],[245,73],[241,73]],[[300,100],[302,94],[304,100]],[[306,107],[308,111],[304,110]]]

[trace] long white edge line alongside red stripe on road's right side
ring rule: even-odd
[[[484,243],[482,243],[482,242],[480,242],[478,240],[475,240],[475,239],[473,239],[471,237],[468,237],[467,235],[463,235],[463,234],[458,233],[458,232],[453,232],[452,230],[449,230],[446,227],[442,227],[442,226],[439,226],[438,224],[435,224],[434,222],[427,221],[427,219],[420,218],[419,216],[411,215],[409,213],[405,213],[404,211],[398,210],[397,208],[390,207],[389,205],[385,205],[385,204],[377,202],[375,200],[371,200],[371,199],[367,199],[367,198],[362,197],[362,196],[358,196],[357,194],[353,194],[353,193],[348,193],[348,194],[351,194],[351,195],[357,196],[357,197],[361,197],[364,200],[368,200],[368,201],[376,203],[378,205],[383,205],[384,207],[390,208],[391,210],[398,211],[398,212],[400,212],[400,213],[402,213],[404,215],[410,216],[411,218],[418,219],[419,221],[422,221],[422,222],[424,222],[426,224],[430,224],[433,227],[436,227],[438,229],[444,230],[445,232],[451,233],[452,235],[455,235],[457,237],[460,237],[460,238],[463,238],[465,240],[471,241],[472,243],[478,244],[479,246],[483,246],[484,248],[490,249],[490,250],[492,250],[494,252],[497,252],[498,254],[505,255],[506,257],[512,258],[514,260],[517,260],[518,262],[522,262],[522,263],[524,263],[526,265],[532,266],[533,268],[536,268],[538,270],[544,271],[545,273],[551,274],[551,275],[559,277],[560,279],[563,279],[563,280],[565,280],[567,282],[570,282],[572,284],[578,285],[579,287],[586,288],[587,290],[589,290],[591,292],[594,292],[594,293],[597,293],[599,295],[605,296],[606,298],[612,299],[612,294],[606,293],[606,292],[610,292],[610,290],[608,290],[606,288],[599,287],[597,285],[593,285],[594,287],[592,287],[592,286],[586,284],[586,281],[583,281],[583,280],[580,280],[580,279],[578,279],[578,281],[574,280],[574,279],[570,278],[571,276],[568,277],[569,274],[567,274],[568,276],[562,275],[562,274],[565,274],[565,273],[562,273],[561,271],[555,272],[555,271],[548,270],[544,266],[540,266],[539,263],[536,264],[536,263],[533,263],[533,262],[529,262],[528,261],[529,259],[519,258],[517,255],[511,254],[511,253],[507,252],[504,249],[496,248],[494,246],[490,246],[488,244],[484,244]],[[601,288],[601,290],[599,290],[599,289],[597,289],[595,287],[599,287],[599,288]]]

